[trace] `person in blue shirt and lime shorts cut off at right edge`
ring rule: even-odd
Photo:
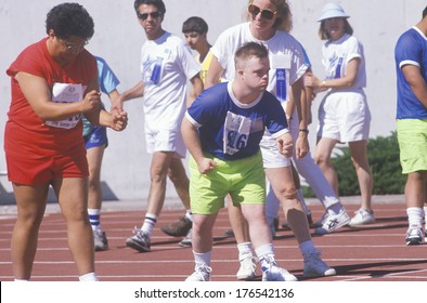
[[[423,18],[400,36],[394,61],[400,163],[407,174],[405,242],[412,246],[422,243],[423,216],[427,218],[427,6]]]

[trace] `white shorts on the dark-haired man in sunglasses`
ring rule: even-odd
[[[146,152],[174,152],[178,158],[185,158],[186,148],[181,130],[157,130],[147,132],[145,129]]]

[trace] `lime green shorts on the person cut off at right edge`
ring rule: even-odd
[[[427,170],[427,120],[397,120],[402,173]]]

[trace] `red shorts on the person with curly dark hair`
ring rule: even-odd
[[[52,156],[41,159],[7,156],[9,181],[37,185],[56,177],[85,177],[89,175],[86,155]]]

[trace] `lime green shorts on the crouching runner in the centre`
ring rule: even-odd
[[[218,167],[208,174],[200,174],[194,159],[190,158],[190,199],[193,213],[215,214],[224,207],[230,194],[233,203],[266,203],[266,174],[262,156],[257,155],[224,161],[211,155]]]

